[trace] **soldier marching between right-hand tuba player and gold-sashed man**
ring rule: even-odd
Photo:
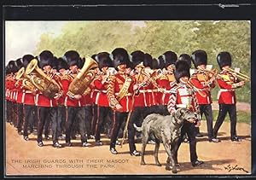
[[[109,67],[113,67],[113,62],[107,52],[99,53],[98,55],[96,55],[96,59],[99,63],[99,69],[101,73],[94,81],[96,90],[99,90],[99,93],[96,96],[97,121],[95,140],[96,146],[101,146],[101,132],[107,125],[108,119],[113,119],[113,111],[112,108],[109,106],[107,96],[108,77],[112,75],[109,72]]]

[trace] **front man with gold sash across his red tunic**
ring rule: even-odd
[[[113,65],[117,69],[117,73],[109,77],[108,81],[108,101],[113,108],[113,128],[110,142],[110,152],[118,154],[115,149],[115,143],[122,123],[127,120],[129,112],[132,110],[132,95],[134,93],[135,81],[125,73],[125,68],[129,61],[129,55],[125,49],[117,48],[112,52]],[[129,120],[129,119],[128,119]],[[133,129],[133,130],[132,130]],[[134,136],[131,131],[135,131],[131,123],[128,125],[128,141],[131,155],[138,155],[135,149]]]

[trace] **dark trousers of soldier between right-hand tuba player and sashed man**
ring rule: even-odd
[[[108,118],[113,119],[113,111],[111,107],[97,107],[97,122],[96,122],[96,133],[95,140],[99,141],[101,139],[101,132],[104,130],[105,125],[107,125]]]

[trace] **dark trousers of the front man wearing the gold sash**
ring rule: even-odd
[[[114,112],[113,113],[113,129],[111,133],[111,138],[110,138],[110,148],[115,148],[115,142],[117,140],[119,130],[121,128],[121,125],[127,120],[129,113],[126,112]],[[134,142],[134,133],[135,133],[135,128],[133,126],[132,119],[129,120],[128,124],[128,142],[129,142],[129,148],[130,152],[133,152],[136,150],[135,147],[135,142]]]

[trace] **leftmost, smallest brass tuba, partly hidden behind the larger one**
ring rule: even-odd
[[[17,72],[16,74],[16,80],[17,82],[15,83],[15,86],[18,85],[19,83],[19,80],[21,80],[20,78],[23,78],[22,79],[22,86],[26,89],[26,90],[31,90],[31,91],[34,91],[36,90],[36,87],[32,84],[32,82],[30,81],[30,77],[28,75],[26,75],[25,73],[25,68],[24,67],[21,67],[20,70]]]

